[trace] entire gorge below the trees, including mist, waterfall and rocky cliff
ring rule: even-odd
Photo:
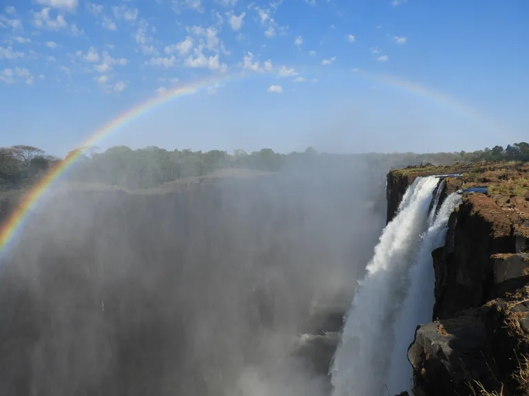
[[[50,190],[0,256],[0,391],[523,395],[528,168],[390,170],[386,208],[362,162]]]

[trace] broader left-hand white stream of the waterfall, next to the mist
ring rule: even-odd
[[[418,177],[386,225],[346,316],[331,367],[335,396],[380,395],[393,346],[393,318],[406,296],[408,271],[428,228],[437,177]]]

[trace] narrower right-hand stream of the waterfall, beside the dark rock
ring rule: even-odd
[[[432,252],[444,245],[448,219],[455,208],[459,206],[459,203],[461,203],[461,195],[454,192],[446,197],[437,212],[437,216],[429,217],[428,231],[424,235],[421,248],[410,271],[408,294],[404,299],[402,309],[393,322],[395,344],[387,382],[391,395],[402,391],[411,391],[413,373],[407,358],[408,347],[413,342],[417,325],[431,322],[432,309],[435,303],[433,295],[435,273]],[[431,212],[435,212],[436,205],[435,203]]]

